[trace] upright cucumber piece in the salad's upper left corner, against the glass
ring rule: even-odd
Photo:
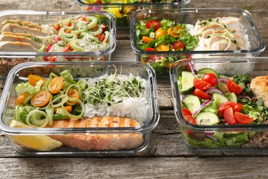
[[[181,94],[189,94],[194,89],[194,75],[191,72],[181,72]]]

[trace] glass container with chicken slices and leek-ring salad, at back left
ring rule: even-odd
[[[115,19],[107,12],[0,12],[0,77],[27,61],[110,61]]]

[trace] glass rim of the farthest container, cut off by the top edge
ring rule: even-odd
[[[170,3],[86,3],[81,0],[75,0],[80,6],[93,6],[93,7],[102,7],[102,8],[121,8],[122,6],[131,6],[131,7],[150,7],[150,8],[164,8],[164,7],[183,7],[190,3],[190,0],[181,0],[179,2],[170,2]],[[161,6],[161,7],[159,7]]]

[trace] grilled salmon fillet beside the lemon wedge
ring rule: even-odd
[[[138,127],[131,118],[93,117],[80,120],[54,120],[52,127]],[[49,126],[48,126],[49,127]],[[144,143],[142,134],[66,134],[50,136],[69,147],[81,150],[119,150],[139,147]]]

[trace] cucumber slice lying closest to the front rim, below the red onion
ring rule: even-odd
[[[212,112],[201,112],[195,120],[197,120],[197,125],[216,125],[220,121],[218,116]]]

